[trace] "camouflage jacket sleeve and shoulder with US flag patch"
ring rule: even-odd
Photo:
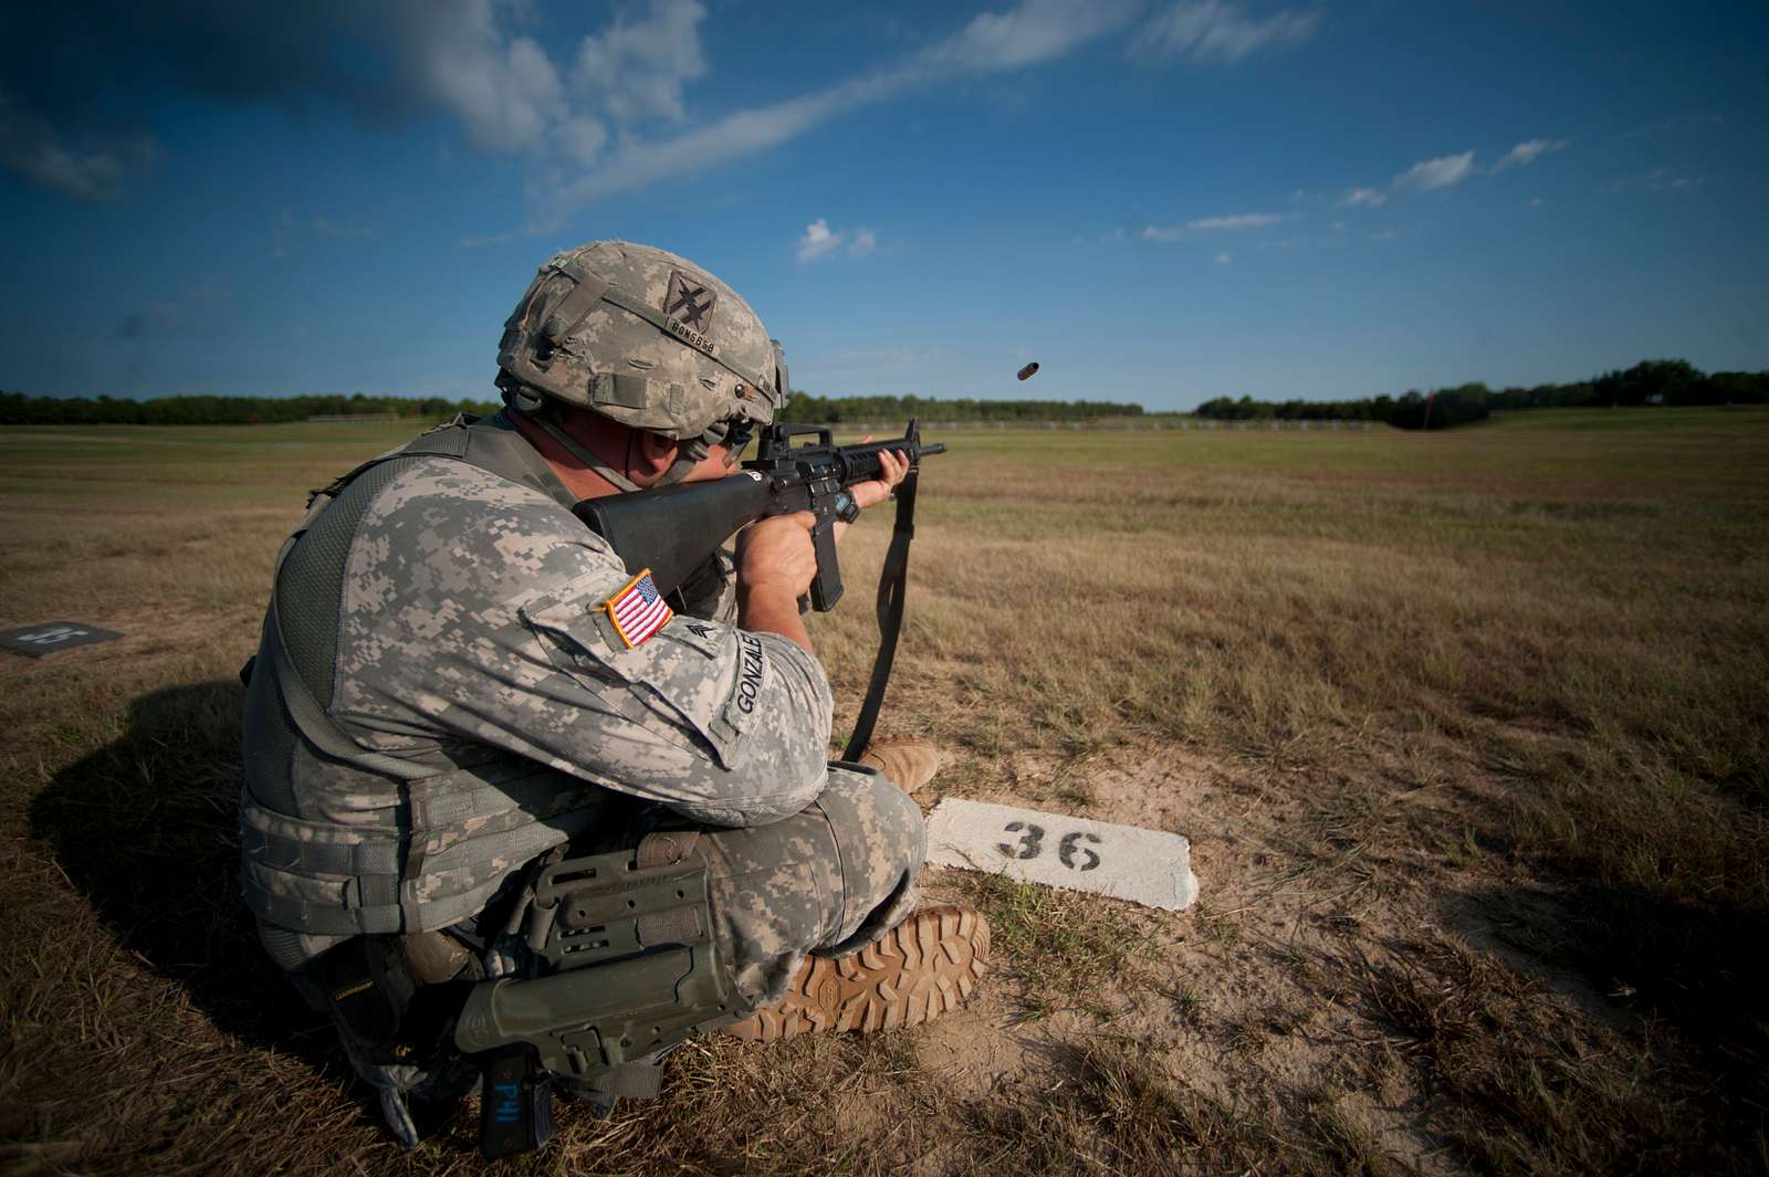
[[[561,502],[421,459],[350,546],[331,714],[382,751],[474,740],[702,822],[803,809],[830,740],[817,661],[693,617],[626,649],[603,603],[630,580]]]

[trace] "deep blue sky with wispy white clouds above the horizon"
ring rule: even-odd
[[[833,396],[1755,371],[1765,49],[1629,0],[12,5],[0,387],[490,396],[607,237]]]

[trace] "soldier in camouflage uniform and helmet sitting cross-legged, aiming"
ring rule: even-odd
[[[787,396],[780,346],[701,267],[594,242],[541,267],[499,368],[495,417],[315,493],[246,670],[246,903],[393,1133],[416,1142],[483,1069],[483,1131],[508,1112],[532,1147],[536,1105],[492,1090],[605,1113],[692,1029],[952,1007],[987,924],[915,910],[904,788],[938,753],[826,763],[810,514],[663,597],[570,511],[731,474]],[[904,470],[886,456],[844,520]]]

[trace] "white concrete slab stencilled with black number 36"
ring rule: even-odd
[[[1182,834],[946,797],[927,818],[927,861],[1182,912],[1198,900]]]

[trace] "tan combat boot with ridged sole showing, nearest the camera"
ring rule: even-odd
[[[725,1027],[771,1043],[823,1030],[870,1034],[922,1025],[969,997],[989,968],[989,921],[969,907],[929,907],[847,956],[807,956],[785,997]]]

